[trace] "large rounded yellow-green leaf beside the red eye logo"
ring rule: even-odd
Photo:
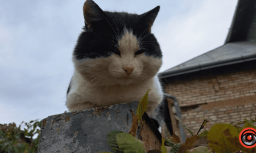
[[[239,151],[240,149],[230,142],[228,138],[238,139],[239,133],[237,129],[230,124],[215,124],[208,132],[209,146],[214,152],[220,153],[232,153]]]

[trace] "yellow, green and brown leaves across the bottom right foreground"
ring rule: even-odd
[[[144,153],[144,143],[139,139],[135,138],[138,123],[142,122],[142,116],[147,110],[148,105],[148,92],[143,96],[141,103],[138,106],[137,114],[133,114],[133,123],[129,134],[123,133],[122,131],[110,131],[108,134],[108,144],[115,153]],[[200,130],[204,128],[205,124],[209,121],[206,119],[201,124],[199,131],[196,135],[193,135],[192,131],[180,120],[179,117],[175,116],[176,120],[179,121],[179,124],[191,133],[192,137],[189,137],[185,140],[184,143],[181,143],[180,138],[173,133],[172,138],[164,139],[162,138],[162,146],[160,150],[154,149],[149,150],[148,152],[162,152],[167,153],[167,147],[172,147],[170,153],[232,153],[237,151],[253,153],[256,152],[256,148],[245,148],[240,144],[239,134],[245,128],[255,128],[253,122],[255,120],[246,119],[244,121],[232,122],[231,124],[215,124],[212,128],[203,133],[199,134]],[[243,128],[238,127],[237,125],[245,124]],[[141,127],[142,129],[142,127]],[[141,132],[141,130],[140,130]],[[198,135],[199,134],[199,135]],[[140,135],[140,133],[138,134]],[[102,152],[103,153],[103,152]],[[113,152],[109,152],[113,153]],[[168,152],[169,153],[169,152]]]

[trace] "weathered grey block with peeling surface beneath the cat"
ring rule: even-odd
[[[130,110],[137,109],[138,104],[138,101],[133,101],[49,116],[43,120],[38,152],[112,151],[107,134],[112,130],[129,133],[132,124]]]

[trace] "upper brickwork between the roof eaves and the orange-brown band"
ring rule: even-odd
[[[201,74],[187,75],[185,78],[175,77],[168,80],[166,92],[177,97],[180,107],[255,95],[255,69],[227,68],[233,68],[233,71],[230,72],[229,69],[229,72],[225,73],[222,67],[215,69],[216,74],[213,74],[214,71],[204,71]],[[204,74],[207,72],[209,75]]]

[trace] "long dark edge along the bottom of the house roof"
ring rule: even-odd
[[[247,61],[253,61],[256,60],[256,54],[251,54],[248,56],[241,56],[237,58],[232,58],[232,59],[226,59],[223,61],[216,61],[216,62],[210,62],[210,63],[205,63],[203,65],[195,65],[195,66],[189,66],[169,72],[162,72],[159,73],[158,76],[159,78],[168,78],[171,76],[176,76],[176,75],[181,75],[181,74],[187,74],[187,73],[192,73],[195,71],[201,71],[201,70],[207,70],[207,69],[212,69],[213,67],[220,67],[220,66],[226,66],[226,65],[232,65],[235,63],[241,63],[241,62],[247,62]]]

